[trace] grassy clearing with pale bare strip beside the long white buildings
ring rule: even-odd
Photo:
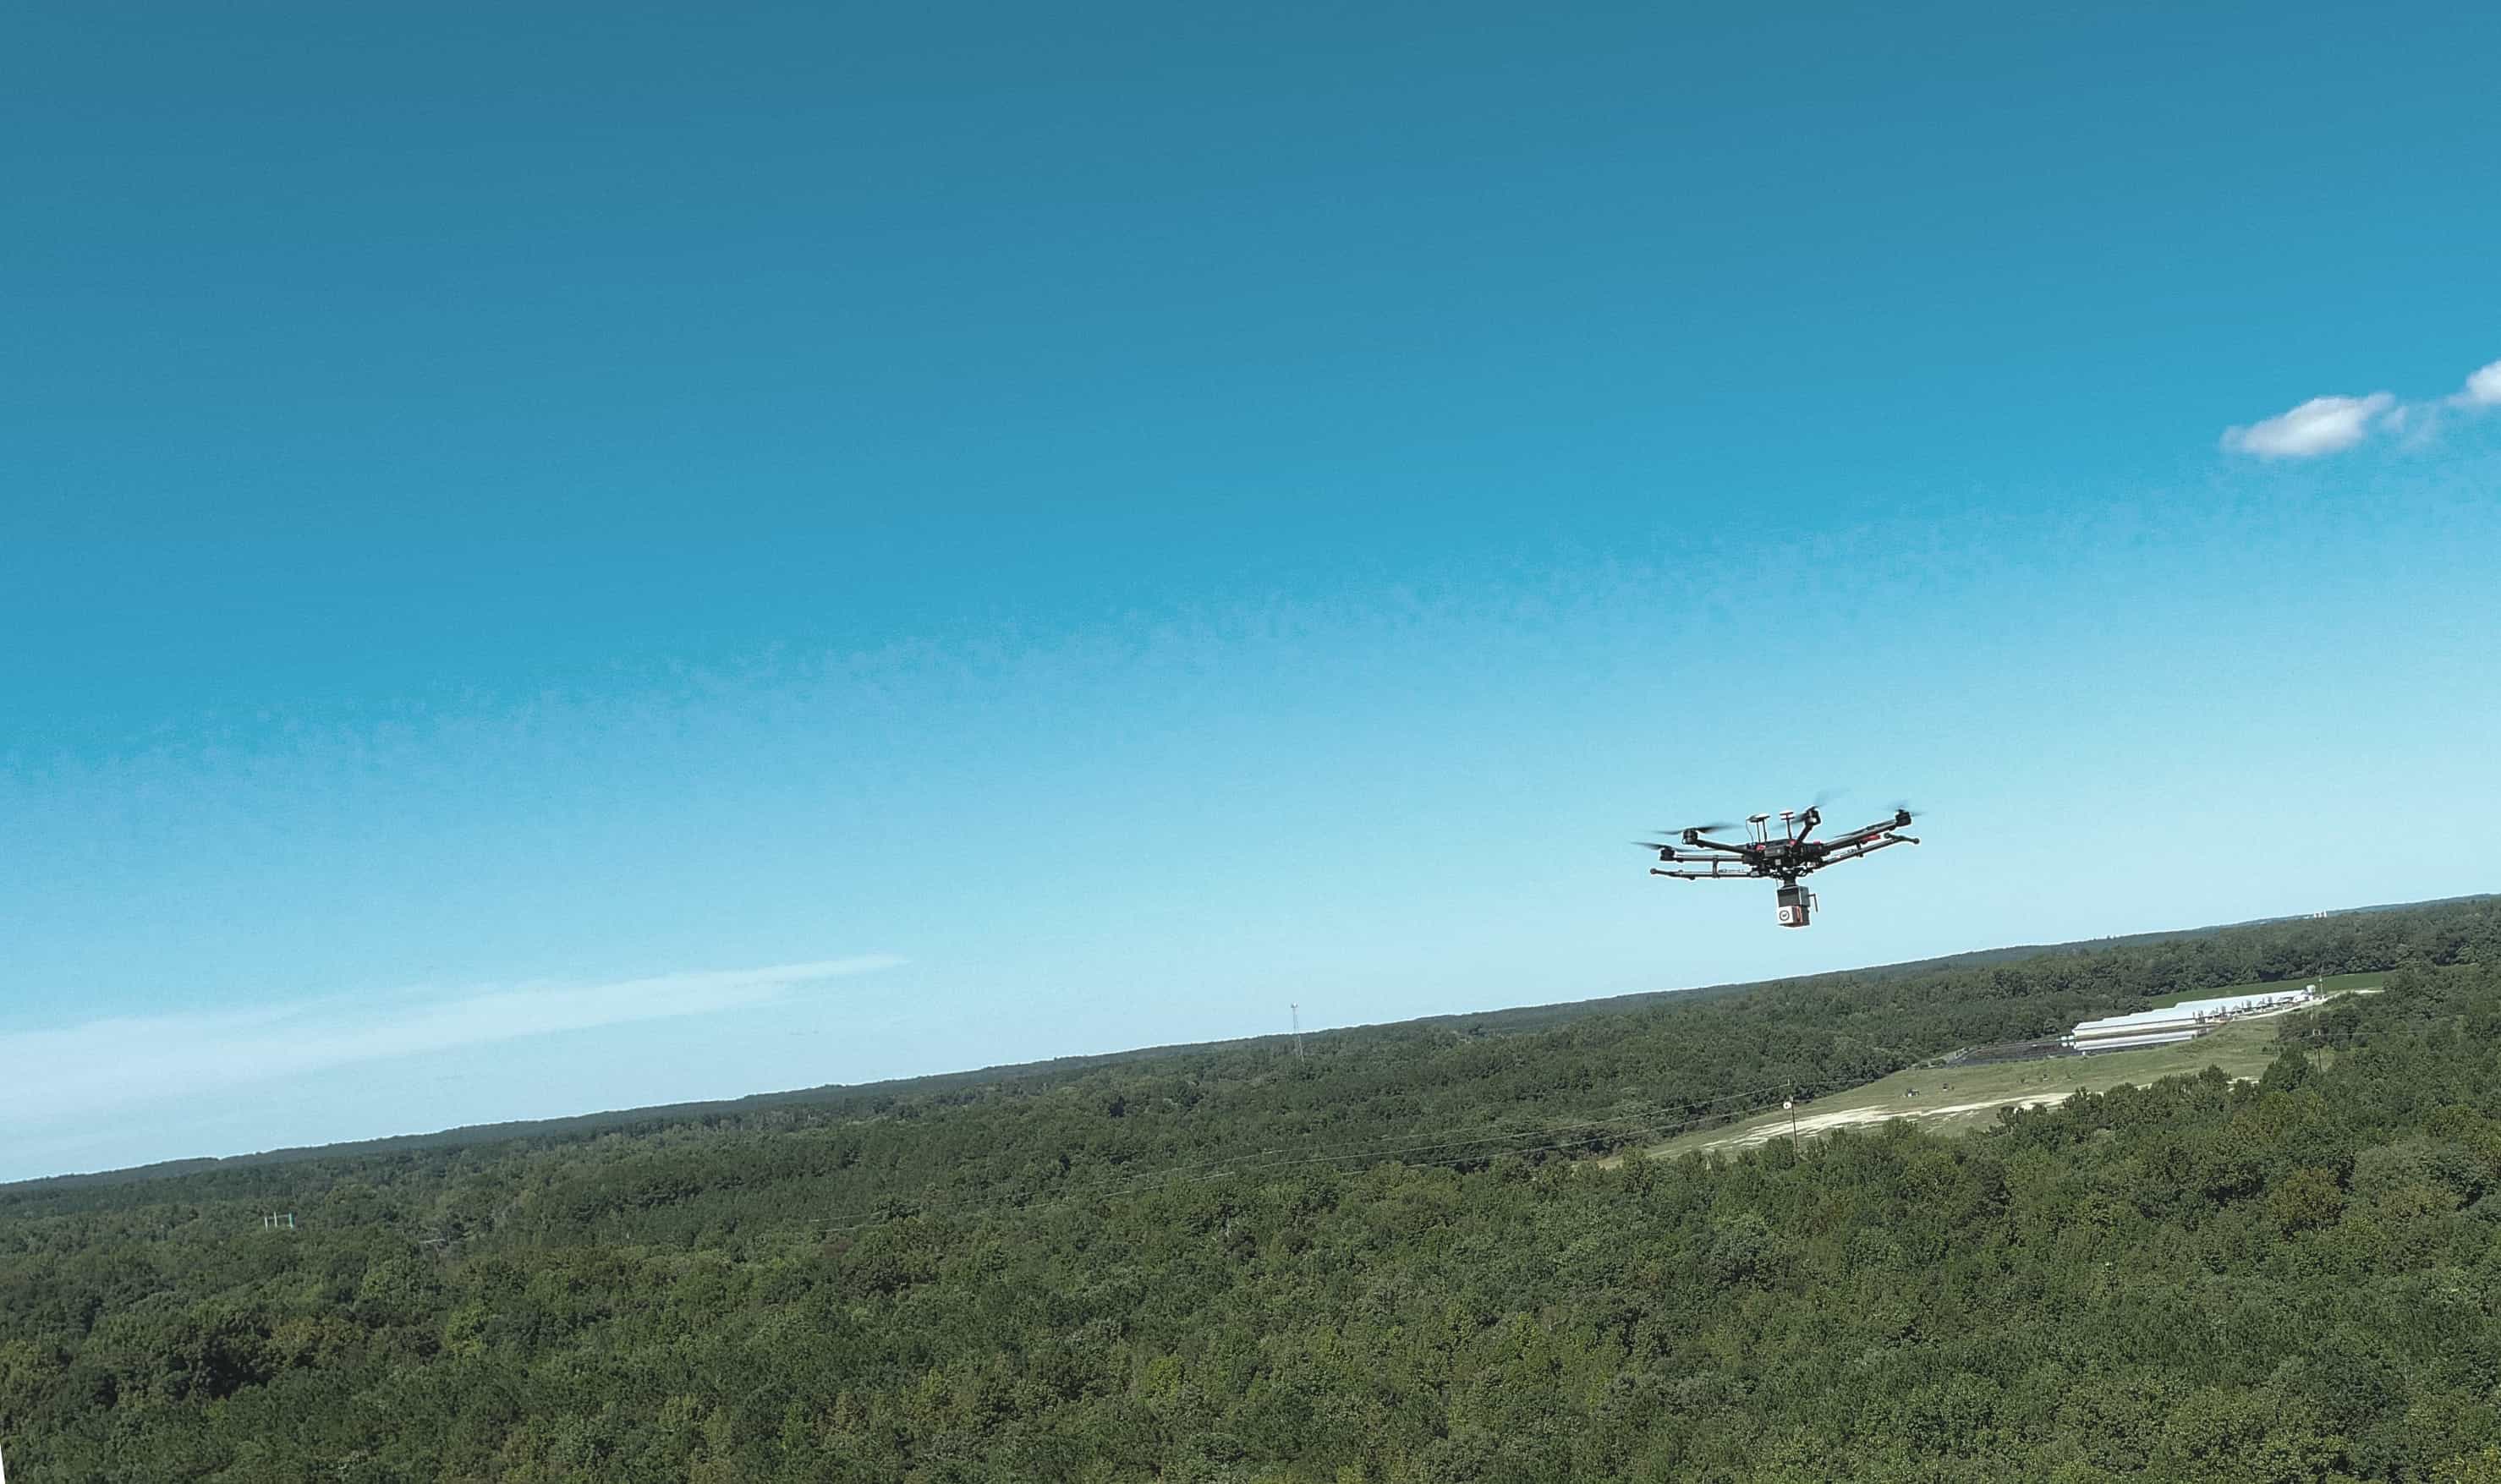
[[[2373,974],[2348,977],[2373,979]],[[2163,1077],[2188,1077],[2206,1067],[2221,1067],[2228,1077],[2258,1077],[2276,1059],[2276,1027],[2281,1024],[2283,1017],[2243,1019],[2193,1042],[2146,1047],[2141,1052],[1896,1072],[1881,1082],[1798,1104],[1796,1124],[1798,1134],[1813,1137],[1836,1127],[1913,1117],[1921,1127],[1958,1134],[1996,1127],[1998,1107],[2011,1102],[2058,1102],[2071,1092],[2103,1092],[2123,1082],[2146,1084]],[[1771,1112],[1718,1129],[1681,1134],[1648,1149],[1648,1154],[1653,1159],[1673,1159],[1701,1149],[1743,1149],[1766,1139],[1786,1139],[1788,1127],[1791,1117],[1786,1112]]]

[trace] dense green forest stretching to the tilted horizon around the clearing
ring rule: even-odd
[[[1641,1157],[2381,969],[2256,1082]],[[2501,1484],[2501,902],[8,1187],[0,1449],[35,1484]]]

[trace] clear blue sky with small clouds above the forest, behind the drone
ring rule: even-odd
[[[0,1177],[2496,884],[2501,15],[8,27]]]

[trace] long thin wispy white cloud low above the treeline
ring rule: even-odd
[[[110,1017],[0,1034],[0,1127],[198,1097],[328,1067],[453,1052],[640,1019],[718,1014],[810,984],[893,969],[865,954],[760,969],[700,969],[610,984],[510,984],[443,997],[325,997],[255,1009]]]

